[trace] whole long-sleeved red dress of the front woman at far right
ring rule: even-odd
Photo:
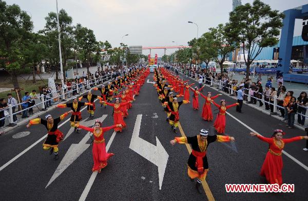
[[[269,184],[279,184],[282,185],[282,157],[281,152],[284,148],[284,144],[298,141],[303,139],[301,136],[281,139],[281,145],[277,144],[277,140],[273,138],[263,137],[261,135],[257,135],[257,137],[269,144],[268,152],[265,156],[265,160],[263,162],[260,175],[265,176],[266,180]]]

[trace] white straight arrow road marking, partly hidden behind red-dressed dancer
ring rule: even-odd
[[[99,118],[99,120],[103,122],[106,117],[107,115],[103,115],[101,118]],[[95,123],[95,120],[87,121],[86,126],[93,125]],[[78,158],[84,151],[86,151],[90,147],[90,144],[86,143],[90,139],[91,135],[92,133],[88,132],[78,144],[71,144],[70,148],[67,150],[65,156],[61,160],[59,166],[54,171],[45,188],[47,188],[51,184],[51,182],[54,181],[54,179],[60,176],[64,172],[64,170],[67,169],[74,160],[76,160],[76,158]]]

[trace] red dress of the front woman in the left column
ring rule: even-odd
[[[94,141],[92,148],[92,156],[94,165],[92,168],[92,172],[100,171],[102,168],[105,168],[107,166],[107,160],[114,155],[113,153],[106,152],[104,132],[107,132],[110,129],[117,127],[117,125],[112,125],[109,127],[101,127],[99,133],[94,132],[94,128],[86,127],[83,125],[79,125],[78,127],[80,129],[84,129],[86,131],[93,133]]]

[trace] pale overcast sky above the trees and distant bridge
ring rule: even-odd
[[[48,12],[56,12],[55,0],[7,0],[32,15],[34,31],[43,29]],[[253,0],[242,0],[242,4]],[[307,4],[307,0],[264,0],[272,9],[284,11]],[[59,0],[59,10],[72,16],[73,25],[80,23],[94,31],[98,41],[119,46],[121,38],[127,45],[172,46],[187,45],[199,36],[228,21],[232,0]],[[294,35],[301,34],[301,20],[296,21]],[[175,41],[176,43],[172,43]],[[168,49],[167,54],[174,50]],[[143,51],[148,54],[149,51]],[[162,56],[163,50],[152,50]]]

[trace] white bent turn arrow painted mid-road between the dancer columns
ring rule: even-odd
[[[138,153],[158,167],[159,189],[161,190],[169,155],[157,137],[157,146],[139,137],[141,119],[142,115],[137,115],[136,123],[134,125],[129,144],[129,149]]]

